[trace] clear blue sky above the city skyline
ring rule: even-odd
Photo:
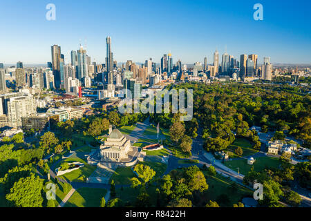
[[[46,5],[56,6],[56,21],[46,20]],[[255,3],[263,21],[253,19]],[[311,64],[311,1],[72,1],[1,0],[0,62],[45,64],[50,46],[68,57],[79,43],[97,62],[106,57],[106,36],[118,62],[152,57],[159,62],[171,51],[190,64],[212,62],[216,48],[238,57],[257,54],[272,63]],[[87,42],[87,43],[86,43]]]

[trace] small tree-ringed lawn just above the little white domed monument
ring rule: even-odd
[[[253,148],[252,144],[248,140],[245,140],[243,138],[238,138],[234,141],[233,144],[231,144],[227,148],[227,153],[230,157],[232,157],[232,158],[239,157],[238,155],[236,155],[236,153],[234,153],[235,149],[238,146],[240,146],[243,150],[243,154],[241,155],[241,157],[247,157],[249,155],[253,155],[255,153],[258,153],[258,150],[255,150]]]

